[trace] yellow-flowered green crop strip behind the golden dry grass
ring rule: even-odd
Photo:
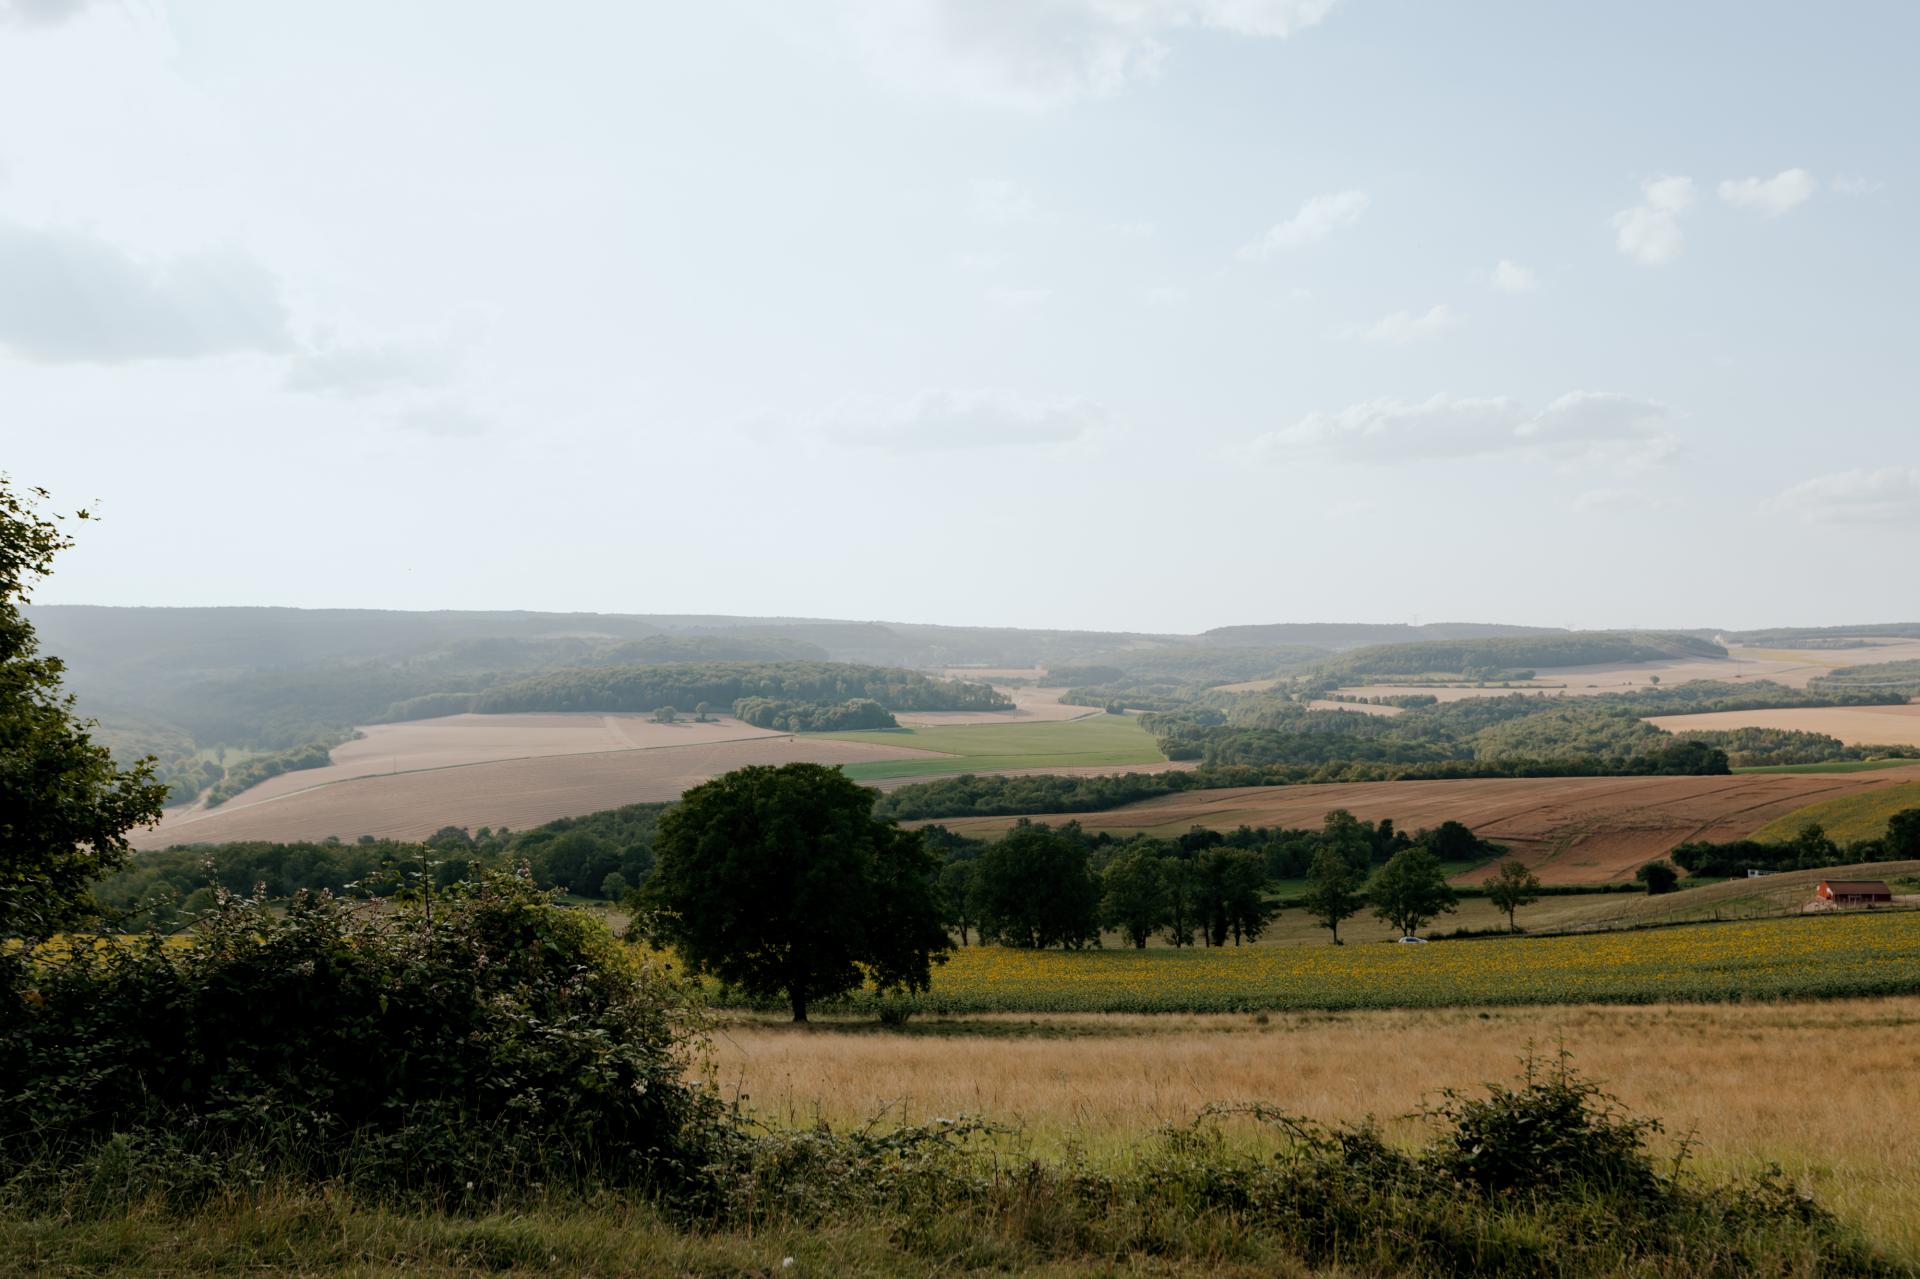
[[[1348,947],[966,947],[931,1012],[1236,1012],[1920,993],[1920,910]],[[852,1001],[870,1006],[872,997]]]

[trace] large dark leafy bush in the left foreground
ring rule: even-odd
[[[284,914],[219,891],[188,945],[0,956],[0,1177],[131,1141],[428,1196],[685,1183],[718,1116],[687,1018],[524,868]]]

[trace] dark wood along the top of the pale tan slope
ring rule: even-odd
[[[741,697],[845,703],[856,697],[889,711],[1010,711],[1012,701],[985,686],[935,680],[899,666],[849,663],[666,663],[660,666],[584,666],[488,689],[470,709],[511,711],[655,711],[701,701],[732,705]]]

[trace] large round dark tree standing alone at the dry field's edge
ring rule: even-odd
[[[874,818],[874,791],[839,768],[739,768],[660,818],[643,905],[695,972],[749,995],[814,1001],[872,981],[927,989],[952,943],[941,862],[918,832]]]

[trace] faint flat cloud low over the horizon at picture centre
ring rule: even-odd
[[[1110,417],[1077,396],[1006,390],[924,390],[904,401],[843,399],[812,421],[835,444],[895,451],[1066,446],[1092,438]]]

